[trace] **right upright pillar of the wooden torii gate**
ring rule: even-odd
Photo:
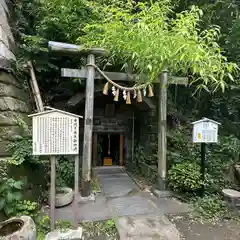
[[[159,84],[158,110],[158,187],[166,190],[167,173],[167,71],[163,71]]]

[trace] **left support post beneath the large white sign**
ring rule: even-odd
[[[51,231],[55,228],[55,179],[56,179],[56,157],[50,156],[51,161],[51,190],[50,190],[50,216],[51,216]]]

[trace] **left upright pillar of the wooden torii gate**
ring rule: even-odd
[[[87,63],[95,64],[93,54],[88,55]],[[82,159],[82,196],[90,195],[91,160],[92,160],[92,128],[93,128],[93,104],[94,104],[94,77],[93,66],[87,67],[83,159]]]

